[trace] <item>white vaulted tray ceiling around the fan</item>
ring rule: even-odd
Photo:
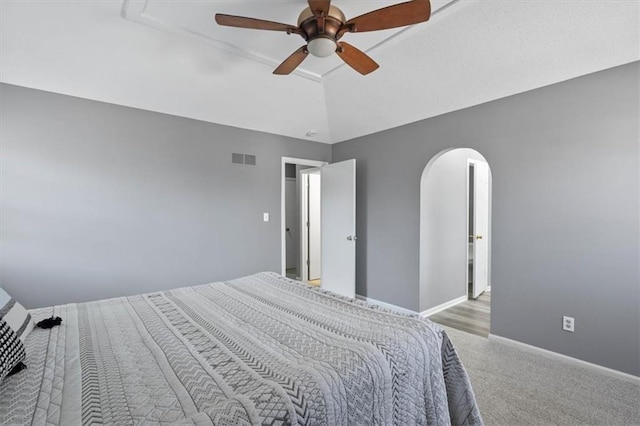
[[[335,0],[347,18],[399,1]],[[273,69],[304,41],[215,24],[295,24],[304,0],[0,0],[0,81],[334,143],[640,59],[640,0],[433,0],[429,22],[348,34],[339,58]],[[313,131],[315,136],[306,136]]]

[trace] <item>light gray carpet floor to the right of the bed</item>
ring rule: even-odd
[[[640,385],[443,327],[491,425],[640,425]]]

